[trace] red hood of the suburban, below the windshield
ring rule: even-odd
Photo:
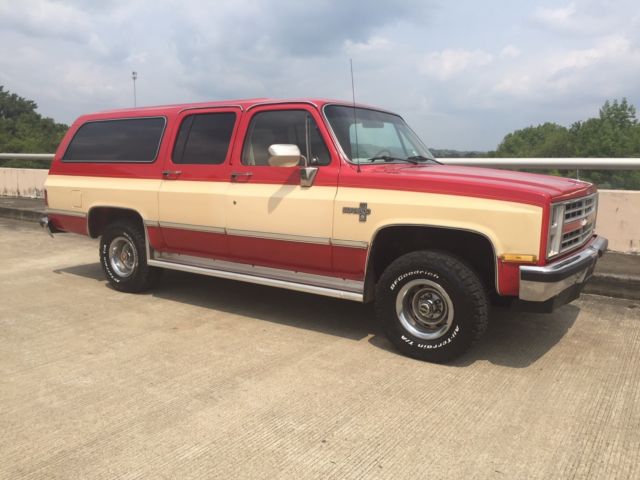
[[[367,165],[362,166],[361,173],[350,176],[359,186],[369,188],[464,195],[533,205],[596,191],[593,184],[572,178],[452,165]]]

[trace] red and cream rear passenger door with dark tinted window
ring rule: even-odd
[[[227,256],[228,159],[239,118],[239,108],[193,109],[178,116],[158,199],[166,250]]]

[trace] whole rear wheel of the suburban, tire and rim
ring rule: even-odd
[[[147,265],[142,228],[126,220],[112,223],[100,237],[100,264],[111,286],[121,292],[148,290],[162,273]]]

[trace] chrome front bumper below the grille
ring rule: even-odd
[[[546,302],[568,290],[582,289],[593,274],[598,258],[607,249],[608,240],[596,237],[570,257],[544,267],[520,267],[520,300]]]

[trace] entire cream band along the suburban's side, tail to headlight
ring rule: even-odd
[[[86,213],[91,207],[109,205],[134,209],[145,220],[157,221],[161,183],[50,175],[45,186],[52,209]],[[162,220],[173,223],[360,242],[370,242],[377,230],[388,225],[436,225],[482,233],[498,255],[538,255],[540,249],[542,208],[514,202],[340,188],[334,205],[335,187],[171,181],[162,188],[167,194]],[[74,207],[73,191],[81,192],[81,207]],[[343,207],[357,208],[363,202],[371,209],[366,222],[342,213]]]

